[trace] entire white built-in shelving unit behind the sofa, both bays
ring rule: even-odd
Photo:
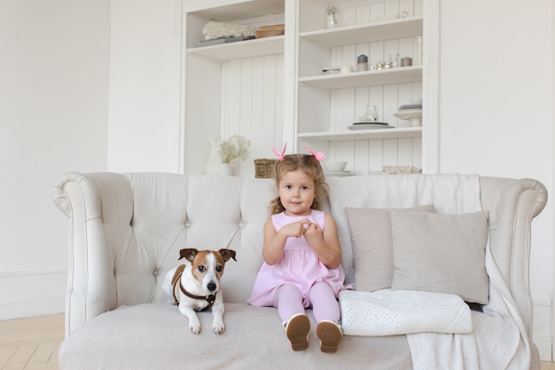
[[[184,167],[199,173],[209,139],[244,135],[252,155],[241,176],[254,174],[252,160],[269,158],[288,142],[324,150],[348,161],[357,173],[384,165],[422,167],[428,126],[426,97],[434,97],[434,69],[423,65],[324,75],[323,67],[351,66],[365,54],[369,65],[392,55],[412,57],[416,36],[435,14],[437,0],[337,0],[342,26],[324,28],[328,0],[188,0],[184,20]],[[429,5],[428,5],[429,4]],[[432,11],[425,11],[430,6]],[[398,17],[395,17],[398,15]],[[207,21],[266,26],[285,24],[285,35],[196,47]],[[434,40],[430,38],[430,43]],[[433,49],[434,44],[431,45]],[[430,48],[430,44],[427,46]],[[429,52],[428,52],[429,54]],[[425,57],[426,57],[425,53]],[[397,61],[400,65],[400,61]],[[355,69],[356,70],[356,69]],[[429,83],[432,81],[432,83]],[[423,127],[396,118],[397,107],[423,97]],[[434,104],[434,102],[431,102]],[[395,128],[348,130],[367,104]],[[430,121],[434,114],[429,114]],[[435,133],[434,133],[435,135]]]

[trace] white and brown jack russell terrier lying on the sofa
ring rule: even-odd
[[[223,325],[223,291],[220,287],[223,268],[231,258],[235,261],[236,252],[231,249],[197,250],[181,249],[179,259],[185,263],[170,270],[162,283],[162,288],[175,299],[179,312],[189,319],[192,333],[200,333],[200,321],[196,311],[212,309],[212,330],[222,334]]]

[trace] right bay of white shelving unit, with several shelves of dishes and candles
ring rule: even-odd
[[[348,161],[357,173],[379,171],[384,165],[422,168],[422,127],[394,116],[398,106],[423,95],[425,66],[399,67],[400,59],[413,57],[416,36],[424,31],[418,2],[368,3],[340,1],[343,18],[339,28],[324,29],[328,2],[309,0],[299,6],[297,54],[298,146],[315,146],[330,157]],[[372,16],[377,14],[378,16]],[[353,67],[364,54],[369,65],[397,56],[395,67],[323,75],[323,67]],[[379,107],[381,122],[395,128],[348,130],[367,105]]]

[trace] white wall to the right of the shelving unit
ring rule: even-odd
[[[554,189],[554,20],[551,0],[442,1],[440,170],[533,177]],[[535,342],[551,359],[553,215],[533,224]]]

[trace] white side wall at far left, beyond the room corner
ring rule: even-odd
[[[51,185],[106,170],[108,0],[0,2],[0,319],[65,306]]]

